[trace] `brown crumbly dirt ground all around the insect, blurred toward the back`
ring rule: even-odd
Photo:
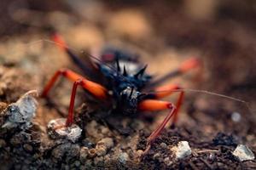
[[[2,23],[8,22],[0,30],[1,127],[8,105],[29,90],[40,92],[56,70],[67,67],[81,72],[50,42],[49,28],[58,31],[78,54],[83,49],[97,55],[107,45],[140,54],[155,77],[197,56],[204,64],[200,78],[192,71],[166,83],[242,101],[187,91],[177,126],[166,127],[142,156],[148,135],[166,112],[102,119],[107,111],[100,104],[84,102],[81,89],[75,111],[81,137],[76,142],[51,139],[49,121],[67,116],[72,83],[63,79],[49,99],[38,99],[32,127],[1,128],[1,169],[256,168],[255,159],[240,161],[232,154],[238,144],[256,154],[256,3],[132,2],[3,3],[12,10],[1,11],[6,17],[0,17]],[[175,102],[176,98],[166,100]],[[192,150],[183,159],[177,159],[173,151],[180,141],[188,141]]]

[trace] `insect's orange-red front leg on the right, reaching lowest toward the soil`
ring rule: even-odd
[[[161,111],[161,110],[171,110],[170,113],[166,116],[163,122],[161,122],[160,126],[157,127],[153,133],[147,139],[147,148],[144,153],[147,153],[150,149],[151,144],[154,142],[163,129],[166,127],[167,122],[170,121],[172,116],[176,112],[176,106],[173,105],[171,102],[161,101],[156,99],[146,99],[139,104],[140,111]]]

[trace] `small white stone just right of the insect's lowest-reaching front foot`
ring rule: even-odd
[[[189,156],[191,154],[191,149],[189,147],[189,142],[180,141],[177,146],[174,146],[172,150],[175,152],[177,159],[183,159],[185,156]]]

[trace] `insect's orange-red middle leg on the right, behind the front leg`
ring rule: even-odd
[[[155,99],[164,98],[168,95],[171,95],[173,92],[175,92],[175,90],[178,90],[178,89],[182,89],[182,88],[180,88],[177,84],[170,84],[170,85],[162,86],[160,88],[156,88],[154,98]],[[174,126],[177,123],[178,111],[180,110],[180,107],[182,105],[183,98],[184,98],[184,92],[180,91],[179,93],[180,94],[178,96],[177,103],[176,103],[177,109],[173,116],[172,126]]]

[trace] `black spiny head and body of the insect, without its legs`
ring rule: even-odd
[[[142,92],[151,80],[151,77],[145,74],[146,66],[141,68],[129,55],[119,51],[103,52],[103,59],[106,54],[112,55],[113,59],[108,60],[108,64],[112,65],[113,69],[99,65],[99,70],[108,80],[107,88],[112,92],[114,103],[119,111],[135,114],[138,104],[149,97]]]

